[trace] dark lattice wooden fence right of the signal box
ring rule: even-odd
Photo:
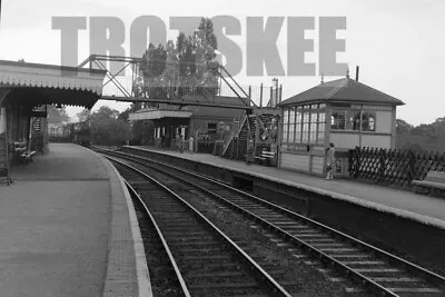
[[[445,154],[380,148],[349,150],[349,176],[383,185],[411,186],[429,170],[445,171]]]

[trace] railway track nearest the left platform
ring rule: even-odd
[[[154,276],[161,276],[155,284],[168,288],[159,289],[159,296],[291,296],[180,196],[130,165],[110,160],[138,198],[139,219],[144,209],[145,220],[151,221],[144,224],[142,238],[150,237],[145,241],[169,259],[149,263]]]

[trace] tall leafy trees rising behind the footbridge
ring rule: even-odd
[[[135,82],[135,93],[137,97],[142,95],[141,81],[149,98],[162,99],[172,96],[162,87],[217,87],[217,75],[209,70],[216,63],[217,46],[214,24],[210,19],[205,18],[191,36],[180,32],[176,42],[169,40],[166,47],[150,43],[142,56],[141,77]]]

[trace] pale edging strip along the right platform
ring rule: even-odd
[[[172,156],[172,157],[176,157],[176,158],[180,158],[180,156],[177,156],[175,154],[169,154],[168,151],[152,150],[152,149],[148,149],[148,148],[131,147],[131,146],[128,146],[128,148],[142,149],[142,150],[151,151],[151,152],[155,152],[155,154],[161,154],[161,155],[167,155],[167,156]],[[209,166],[216,166],[215,164],[207,162],[207,161],[204,161],[204,160],[197,160],[197,159],[192,159],[192,158],[187,158],[188,157],[187,155],[185,155],[185,157],[186,158],[182,158],[182,159],[188,159],[188,160],[201,162],[201,164],[209,165]],[[329,197],[332,197],[334,199],[343,200],[343,201],[355,204],[355,205],[363,206],[363,207],[366,207],[366,208],[375,209],[375,210],[378,210],[380,212],[395,215],[395,216],[398,216],[398,217],[402,217],[402,218],[405,218],[405,219],[409,219],[409,220],[418,221],[421,224],[431,225],[433,227],[445,229],[445,221],[443,221],[441,219],[433,218],[433,217],[418,215],[418,214],[415,214],[415,212],[412,212],[412,211],[408,211],[408,210],[404,210],[404,209],[399,209],[399,208],[395,208],[395,207],[390,207],[390,206],[385,206],[385,205],[380,205],[380,204],[376,204],[376,202],[365,201],[365,200],[362,200],[359,198],[355,198],[355,197],[352,197],[352,196],[347,196],[347,195],[335,192],[335,191],[330,191],[330,190],[324,190],[324,189],[315,188],[315,187],[312,187],[312,186],[308,186],[308,185],[304,185],[304,184],[299,184],[299,182],[296,182],[296,181],[281,180],[281,179],[274,178],[274,177],[270,177],[270,176],[265,176],[263,174],[256,174],[256,172],[253,172],[253,171],[247,171],[247,170],[244,170],[244,169],[240,169],[240,168],[231,168],[231,167],[228,167],[228,166],[225,166],[225,165],[218,165],[218,166],[220,166],[220,167],[222,167],[222,168],[225,168],[227,170],[235,170],[235,171],[238,171],[238,172],[241,172],[241,174],[245,174],[245,175],[259,177],[259,178],[267,179],[267,180],[270,180],[270,181],[284,184],[286,186],[297,187],[297,188],[300,188],[300,189],[304,189],[304,190],[307,190],[307,191],[312,191],[312,192],[315,192],[315,194],[329,196]],[[279,168],[277,168],[277,169],[279,169]]]

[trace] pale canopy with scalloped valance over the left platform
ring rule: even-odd
[[[105,70],[0,60],[0,88],[26,105],[92,108],[102,93]]]

